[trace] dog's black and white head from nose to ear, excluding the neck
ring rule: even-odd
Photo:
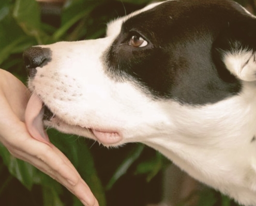
[[[64,132],[105,133],[106,145],[175,134],[178,111],[255,80],[253,24],[230,1],[156,3],[111,22],[106,38],[28,49],[28,85],[54,114],[46,124]]]

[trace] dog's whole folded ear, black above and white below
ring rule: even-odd
[[[256,81],[256,19],[228,23],[214,42],[214,58],[240,80]]]

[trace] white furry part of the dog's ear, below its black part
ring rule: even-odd
[[[252,50],[226,52],[223,62],[237,78],[244,81],[256,81],[256,53]]]

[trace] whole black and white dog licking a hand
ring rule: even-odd
[[[106,38],[26,50],[27,127],[47,138],[34,124],[42,101],[47,126],[106,146],[142,142],[256,205],[255,55],[256,18],[237,3],[155,3],[111,22]]]

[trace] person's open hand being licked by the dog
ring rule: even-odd
[[[50,142],[38,141],[28,133],[25,109],[29,96],[21,81],[0,69],[0,142],[14,157],[31,163],[63,184],[84,205],[98,206],[91,190],[65,155]]]

